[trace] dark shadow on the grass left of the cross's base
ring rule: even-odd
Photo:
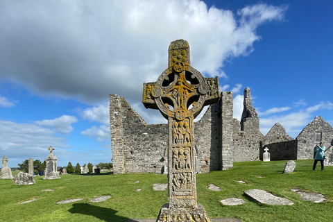
[[[127,221],[126,217],[117,216],[117,211],[112,210],[110,208],[98,207],[94,205],[90,205],[88,203],[74,203],[73,207],[69,209],[71,214],[85,214],[88,216],[94,216],[101,221],[109,221],[109,222],[124,222]]]

